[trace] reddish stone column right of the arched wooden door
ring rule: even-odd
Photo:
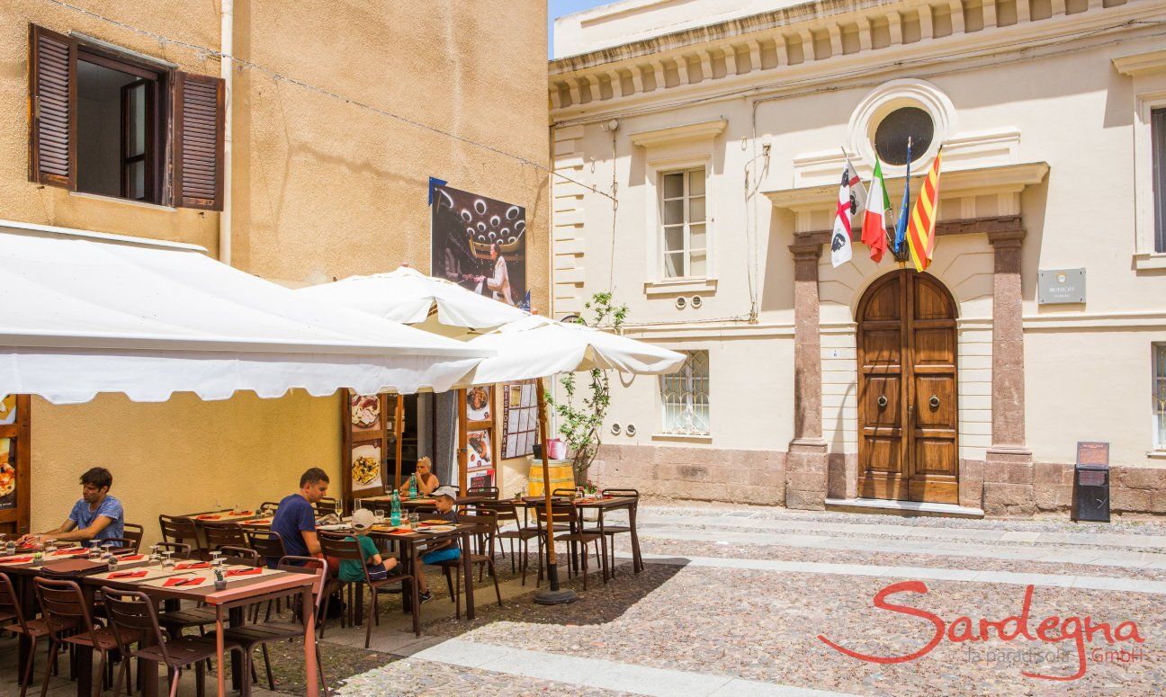
[[[1020,247],[1024,230],[988,234],[992,275],[992,444],[984,458],[984,512],[1037,512],[1032,451],[1024,437],[1024,317]]]

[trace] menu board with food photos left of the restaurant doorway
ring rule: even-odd
[[[392,465],[396,453],[396,395],[345,390],[343,404],[344,498],[384,494],[395,473]]]

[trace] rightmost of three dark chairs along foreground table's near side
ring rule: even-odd
[[[114,697],[121,694],[121,682],[129,673],[128,657],[131,656],[138,659],[139,663],[154,661],[159,666],[166,666],[170,674],[170,697],[174,697],[178,690],[182,669],[194,666],[196,670],[195,689],[202,697],[206,687],[204,668],[210,659],[213,659],[218,653],[215,641],[202,636],[173,636],[168,632],[163,632],[159,625],[154,601],[146,593],[103,586],[101,594],[105,597],[105,611],[112,627],[111,634],[117,641],[117,648],[124,656],[127,656],[118,671],[118,682],[113,690]],[[143,638],[148,638],[149,641],[142,642]],[[136,650],[133,649],[134,643],[140,645]],[[141,643],[146,646],[141,646]],[[224,641],[223,648],[229,652],[243,652],[243,647],[230,639]]]

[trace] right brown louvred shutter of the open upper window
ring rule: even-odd
[[[178,72],[174,79],[174,203],[223,210],[223,80]]]

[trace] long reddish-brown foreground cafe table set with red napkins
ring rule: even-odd
[[[19,552],[16,556],[24,556]],[[120,557],[120,563],[118,564],[117,572],[121,571],[136,571],[146,570],[147,576],[142,578],[125,578],[125,579],[111,579],[108,578],[110,572],[104,570],[97,570],[90,573],[52,573],[51,570],[47,570],[44,566],[35,566],[33,563],[12,564],[2,563],[0,559],[0,571],[15,576],[20,579],[20,590],[17,593],[21,596],[21,600],[26,608],[29,611],[35,610],[36,600],[33,590],[33,578],[36,576],[47,576],[52,578],[64,578],[69,580],[77,582],[86,598],[92,601],[93,591],[98,587],[106,585],[117,589],[125,589],[132,591],[141,591],[159,601],[161,600],[194,600],[198,603],[204,603],[208,606],[215,607],[215,628],[217,636],[217,648],[218,648],[218,662],[217,662],[217,678],[218,678],[218,695],[222,697],[226,694],[226,675],[223,670],[224,666],[224,646],[223,646],[223,631],[229,626],[238,626],[243,622],[241,608],[254,603],[262,603],[265,600],[271,600],[274,598],[282,598],[288,594],[298,593],[302,600],[302,612],[303,617],[307,618],[304,624],[304,667],[305,667],[305,678],[307,678],[307,690],[309,697],[316,697],[318,695],[318,687],[316,684],[316,642],[315,629],[316,629],[316,614],[312,607],[311,598],[311,586],[316,580],[315,575],[309,573],[289,573],[286,571],[273,571],[262,570],[260,575],[251,577],[243,577],[237,579],[229,579],[227,587],[222,591],[215,590],[213,580],[211,579],[211,572],[209,569],[183,571],[181,569],[164,569],[160,564],[149,564],[143,561],[146,555],[127,555]],[[62,556],[61,558],[68,559],[69,556]],[[47,562],[49,566],[54,564],[52,559]],[[182,562],[178,563],[180,565]],[[232,566],[229,565],[227,569],[246,569],[245,566]],[[166,578],[171,576],[198,576],[204,578],[202,583],[192,586],[173,586],[162,587],[161,583],[164,583]],[[31,614],[31,613],[30,613]],[[28,655],[27,639],[21,635],[21,666]],[[77,648],[77,696],[78,697],[90,697],[92,695],[92,667],[93,667],[93,652],[84,646],[78,646]],[[233,659],[233,656],[232,656]],[[248,694],[251,690],[251,681],[248,676],[241,674],[241,663],[232,660],[232,667],[234,669],[234,682],[237,687],[241,687],[244,694]],[[157,695],[157,681],[159,681],[159,664],[150,661],[145,661],[139,667],[140,671],[143,671],[142,681],[142,695],[143,697],[155,697]],[[101,680],[101,676],[98,676]]]

